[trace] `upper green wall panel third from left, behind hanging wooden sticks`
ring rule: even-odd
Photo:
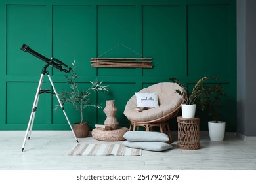
[[[140,50],[137,50],[140,41],[137,40],[135,6],[98,6],[97,10],[97,56],[99,58],[141,57]],[[98,68],[98,76],[133,75],[135,69]]]

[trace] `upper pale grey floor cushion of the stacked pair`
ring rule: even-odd
[[[155,131],[127,131],[123,138],[128,141],[139,141],[139,142],[167,142],[169,136],[165,133]]]

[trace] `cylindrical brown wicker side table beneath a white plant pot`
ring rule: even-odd
[[[200,148],[200,118],[177,117],[178,142],[177,146],[186,150],[197,150]]]

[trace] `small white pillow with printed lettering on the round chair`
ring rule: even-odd
[[[137,107],[158,107],[158,92],[136,93]]]

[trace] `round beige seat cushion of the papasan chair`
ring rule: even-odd
[[[133,95],[127,102],[123,114],[127,118],[137,122],[146,122],[161,118],[175,110],[183,102],[181,95],[175,92],[177,89],[182,91],[182,88],[178,84],[172,82],[161,82],[144,88],[139,93],[158,92],[159,107],[137,112],[134,110],[137,107],[137,100],[135,95]]]

